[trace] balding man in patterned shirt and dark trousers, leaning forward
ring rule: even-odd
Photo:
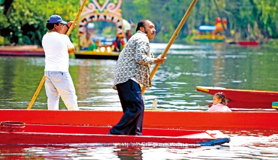
[[[137,24],[136,33],[128,40],[119,55],[113,88],[118,91],[123,116],[108,134],[142,135],[144,101],[142,87],[152,87],[150,65],[162,64],[166,58],[154,58],[150,42],[155,37],[155,25],[143,19]]]

